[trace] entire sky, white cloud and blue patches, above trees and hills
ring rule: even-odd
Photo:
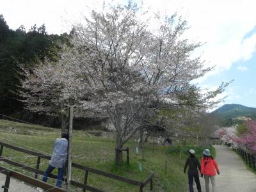
[[[205,43],[196,53],[205,66],[214,70],[198,79],[202,88],[213,90],[221,82],[234,79],[220,97],[222,104],[242,104],[256,108],[256,1],[255,0],[136,0],[150,12],[172,15],[177,12],[188,21],[184,34],[189,40]],[[49,34],[70,31],[70,24],[83,20],[81,15],[99,9],[103,1],[95,0],[0,0],[0,14],[8,26],[20,25],[28,30],[45,24]],[[106,0],[105,3],[127,3]]]

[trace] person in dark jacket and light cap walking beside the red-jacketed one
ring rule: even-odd
[[[184,166],[184,173],[186,173],[186,169],[188,167],[189,192],[194,192],[194,189],[193,189],[194,179],[196,182],[196,188],[198,192],[201,192],[201,184],[200,184],[199,175],[198,175],[198,170],[201,172],[201,166],[198,159],[196,159],[195,157],[195,150],[190,149],[188,152],[189,152],[189,157]]]

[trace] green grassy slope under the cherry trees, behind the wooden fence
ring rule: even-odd
[[[32,148],[35,151],[44,154],[51,154],[54,140],[59,137],[60,130],[51,129],[42,126],[19,124],[0,120],[0,140],[12,145],[24,148]],[[85,166],[90,166],[103,170],[105,172],[116,173],[127,178],[136,180],[145,180],[150,171],[156,174],[154,179],[155,191],[187,191],[188,179],[183,173],[186,154],[168,154],[168,147],[155,145],[154,153],[152,153],[152,144],[145,145],[144,160],[135,154],[134,148],[136,143],[133,141],[127,143],[124,147],[130,148],[130,164],[121,168],[116,168],[113,164],[115,141],[113,139],[100,138],[92,136],[84,131],[74,131],[72,138],[73,161]],[[125,155],[125,154],[124,154]],[[15,161],[19,161],[30,166],[36,164],[36,157],[24,157],[25,154],[4,148],[3,156],[15,157]],[[28,156],[28,155],[27,155]],[[125,156],[124,156],[125,159]],[[167,161],[167,171],[165,173],[165,161]],[[142,164],[140,171],[138,162]],[[47,166],[47,161],[42,161],[41,170]],[[8,166],[8,164],[3,164]],[[56,173],[56,171],[55,171]],[[29,174],[29,173],[28,173]],[[84,172],[77,169],[72,170],[72,179],[83,182]],[[54,183],[53,181],[50,181]],[[116,180],[108,179],[93,173],[89,173],[88,185],[95,186],[105,191],[138,191],[138,187],[125,184]],[[149,191],[149,185],[145,191]],[[78,191],[74,189],[74,191]]]

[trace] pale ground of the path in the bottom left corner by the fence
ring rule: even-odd
[[[4,191],[1,186],[4,185],[6,175],[0,173],[0,191]],[[9,192],[36,192],[35,188],[24,184],[24,182],[20,182],[19,180],[15,180],[11,177]],[[37,191],[38,192],[38,191]]]

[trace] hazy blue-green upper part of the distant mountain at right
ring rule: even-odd
[[[212,111],[212,113],[221,120],[237,118],[239,116],[256,118],[256,108],[249,108],[240,104],[225,104],[215,111]]]

